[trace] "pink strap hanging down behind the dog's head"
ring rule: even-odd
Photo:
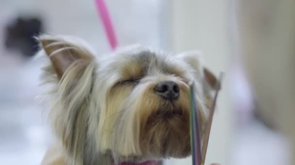
[[[106,4],[104,0],[95,0],[95,4],[98,9],[98,15],[100,16],[104,29],[107,33],[107,37],[111,45],[111,48],[112,50],[114,50],[117,47],[118,43]]]

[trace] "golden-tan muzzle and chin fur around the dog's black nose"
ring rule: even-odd
[[[175,79],[180,84],[180,98],[171,102],[154,92],[155,80],[145,82],[143,79],[143,83],[133,89],[134,96],[132,92],[122,107],[123,120],[116,120],[115,130],[124,131],[115,139],[116,148],[113,149],[118,152],[115,155],[119,155],[119,161],[127,161],[130,156],[150,160],[182,158],[190,154],[188,86]],[[120,160],[122,155],[127,160]]]

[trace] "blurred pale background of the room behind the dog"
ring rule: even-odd
[[[294,0],[106,2],[120,45],[197,49],[226,73],[206,165],[295,165]],[[111,52],[93,0],[0,0],[0,165],[39,165],[52,140],[35,99],[42,62],[31,37],[43,32]]]

